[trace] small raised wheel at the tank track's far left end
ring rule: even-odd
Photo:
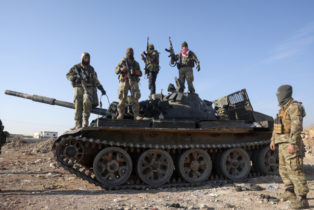
[[[77,140],[69,139],[61,142],[57,154],[58,159],[65,165],[74,165],[83,157],[84,149]]]

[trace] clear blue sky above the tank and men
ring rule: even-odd
[[[166,93],[178,76],[164,51],[170,36],[175,53],[186,41],[200,60],[193,84],[202,99],[246,89],[254,111],[274,117],[276,91],[289,84],[292,97],[305,106],[306,127],[314,121],[313,9],[312,0],[2,1],[0,119],[10,133],[60,135],[74,125],[74,110],[5,95],[4,90],[72,102],[66,73],[88,52],[110,102],[118,101],[114,69],[128,47],[143,69],[140,54],[147,36],[161,53],[156,89]],[[148,80],[142,77],[140,85],[140,100],[146,100]],[[106,98],[103,104],[108,107]],[[90,120],[95,118],[92,114]]]

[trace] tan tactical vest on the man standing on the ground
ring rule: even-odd
[[[302,103],[298,102],[298,101],[294,101],[294,100],[291,100],[285,108],[280,108],[279,113],[276,115],[276,119],[274,120],[274,133],[290,134],[290,132],[291,132],[291,119],[286,120],[286,118],[287,118],[288,108],[290,107],[291,104],[293,104],[295,102],[299,103],[304,110]],[[302,117],[305,117],[305,116],[303,116],[303,113],[302,113]]]

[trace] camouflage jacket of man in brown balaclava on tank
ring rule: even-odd
[[[123,77],[128,75],[128,73],[124,73],[121,71],[121,69],[123,68],[127,69],[126,60],[127,60],[126,58],[122,58],[122,60],[118,63],[116,69],[114,70],[114,73],[119,75],[118,79],[120,82],[129,82],[129,80],[121,81]],[[139,63],[136,60],[128,60],[128,64],[129,64],[130,69],[139,71],[139,75],[137,76],[133,75],[132,77],[133,81],[139,82],[140,81],[139,77],[143,75],[143,72],[141,71],[141,68],[139,67]]]

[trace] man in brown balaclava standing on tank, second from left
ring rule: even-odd
[[[140,90],[138,88],[138,82],[140,81],[140,78],[143,73],[139,67],[139,63],[134,60],[134,53],[133,49],[129,47],[126,52],[127,58],[123,58],[117,65],[114,72],[119,75],[119,90],[118,90],[118,98],[120,99],[119,105],[118,105],[118,113],[119,116],[117,117],[117,120],[122,120],[124,116],[124,110],[126,106],[127,96],[128,92],[130,90],[131,93],[131,99],[132,99],[132,112],[134,114],[134,120],[143,120],[139,116],[139,104],[138,99],[141,97]],[[132,81],[129,80],[128,77],[128,71],[127,71],[127,65],[126,62],[128,61],[129,68],[132,75]],[[133,90],[131,90],[131,84],[133,84]]]

